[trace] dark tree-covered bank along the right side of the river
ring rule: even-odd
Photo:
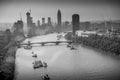
[[[65,36],[67,40],[75,40],[71,34]],[[76,43],[101,50],[107,54],[120,56],[120,38],[89,35],[88,37],[76,37]]]

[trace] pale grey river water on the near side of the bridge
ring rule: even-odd
[[[120,80],[119,59],[81,45],[75,47],[70,50],[66,44],[47,44],[31,50],[17,49],[16,80],[42,80],[44,74],[51,80]],[[37,54],[36,59],[32,52]],[[47,62],[48,67],[34,69],[35,60]]]

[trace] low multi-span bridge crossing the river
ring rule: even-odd
[[[22,45],[26,45],[26,46],[32,46],[32,44],[40,44],[41,46],[44,46],[45,44],[49,44],[49,43],[54,43],[56,45],[59,45],[60,43],[68,43],[68,44],[72,44],[72,41],[47,41],[47,42],[30,42],[28,41],[28,43],[17,43],[17,46],[20,47]]]

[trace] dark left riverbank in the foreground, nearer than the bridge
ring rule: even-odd
[[[15,70],[15,46],[8,49],[7,55],[5,56],[1,64],[1,78],[2,80],[13,80]]]

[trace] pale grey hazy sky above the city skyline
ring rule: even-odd
[[[57,11],[61,10],[62,21],[71,21],[73,14],[80,21],[120,20],[119,0],[0,0],[0,22],[26,22],[26,12],[31,10],[33,21],[51,17],[57,22]]]

